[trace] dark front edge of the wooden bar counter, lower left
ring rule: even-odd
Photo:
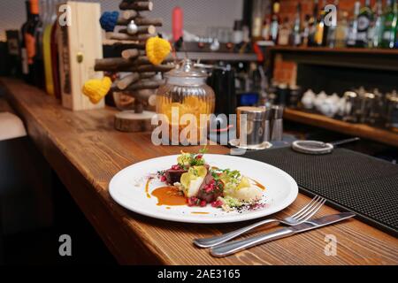
[[[69,193],[73,196],[74,201],[78,203],[80,209],[85,206],[87,207],[88,204],[81,203],[82,192],[86,194],[83,196],[84,199],[89,198],[92,201],[90,204],[94,207],[96,213],[87,209],[81,210],[86,218],[88,218],[89,222],[95,227],[96,232],[101,236],[103,242],[111,250],[111,253],[117,258],[119,264],[172,264],[172,261],[167,258],[167,255],[163,254],[161,250],[157,249],[156,245],[151,244],[151,242],[148,241],[146,233],[142,231],[138,225],[133,227],[134,233],[132,233],[133,229],[131,229],[131,222],[126,224],[123,221],[123,218],[126,217],[126,213],[123,213],[124,209],[117,206],[116,203],[112,206],[109,202],[106,202],[106,198],[110,197],[110,195],[103,195],[103,192],[98,189],[98,186],[100,185],[96,183],[96,180],[90,180],[88,176],[83,173],[84,171],[79,168],[79,164],[73,162],[73,158],[65,155],[65,150],[62,150],[62,147],[57,144],[57,139],[52,139],[50,134],[45,131],[45,126],[41,125],[40,120],[34,119],[27,107],[23,105],[23,103],[19,103],[19,101],[13,96],[9,85],[3,78],[0,78],[0,86],[3,86],[6,90],[5,96],[7,98],[7,102],[24,121],[28,135],[31,137],[38,149],[40,149],[42,155],[47,159],[54,171],[57,172],[58,177],[64,183],[65,187],[68,188]],[[71,176],[73,176],[73,178],[71,178]],[[71,184],[71,180],[73,180],[73,184]],[[96,192],[92,189],[87,189],[89,186],[94,187]],[[91,193],[91,197],[88,197],[88,193]],[[98,194],[101,195],[101,198],[97,197]],[[93,204],[93,201],[96,202]],[[111,215],[106,213],[107,210],[111,211]],[[120,211],[122,211],[122,213],[120,213]],[[121,224],[123,230],[120,231],[119,226],[113,226],[110,229],[103,231],[103,221],[101,224],[97,221],[97,215],[99,214],[102,215],[102,218],[109,218],[112,216],[113,220],[116,220]],[[110,226],[110,224],[111,223],[108,223],[107,225]],[[130,228],[127,228],[127,226]],[[136,233],[137,231],[140,231],[140,233]],[[110,232],[111,237],[107,236]],[[128,239],[127,241],[121,241],[120,237],[128,237]],[[120,240],[119,242],[127,242],[131,244],[131,246],[125,247],[125,249],[132,250],[131,257],[126,258],[126,252],[120,251],[113,244],[115,240],[118,241],[117,239]],[[140,246],[145,246],[146,249],[141,250],[147,251],[147,254],[134,256],[134,249],[137,249]],[[149,253],[149,251],[151,253]]]

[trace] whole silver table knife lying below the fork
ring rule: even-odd
[[[356,214],[352,212],[341,212],[339,214],[324,216],[322,218],[306,221],[298,226],[282,228],[272,233],[265,233],[240,241],[226,242],[210,249],[210,254],[211,256],[217,257],[229,256],[242,249],[249,249],[256,245],[263,244],[264,242],[286,238],[296,233],[302,233],[323,226],[328,226],[348,218],[353,218],[355,216]]]

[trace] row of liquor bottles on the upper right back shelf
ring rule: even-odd
[[[334,1],[335,11],[331,6],[326,9],[326,4],[325,0],[322,4],[314,0],[312,14],[303,17],[302,4],[298,2],[295,17],[289,20],[279,18],[279,1],[274,2],[271,18],[264,20],[264,32],[260,42],[272,42],[278,49],[279,46],[284,46],[288,49],[297,47],[300,50],[319,48],[322,51],[336,49],[373,53],[389,53],[389,50],[393,50],[391,52],[396,53],[397,0],[387,0],[384,5],[383,1],[378,0],[374,6],[371,6],[370,0],[366,0],[364,5],[361,1],[356,1],[353,12],[340,9],[339,1]],[[334,12],[335,17],[331,14]]]

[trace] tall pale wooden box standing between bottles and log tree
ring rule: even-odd
[[[103,108],[104,99],[93,104],[82,92],[87,80],[103,78],[103,72],[94,71],[95,60],[103,57],[101,4],[66,4],[70,25],[62,27],[58,23],[57,34],[62,104],[73,111]]]

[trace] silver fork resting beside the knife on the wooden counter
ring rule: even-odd
[[[248,233],[249,231],[255,229],[258,226],[263,226],[265,224],[272,223],[272,222],[278,222],[278,223],[286,225],[286,226],[296,226],[296,225],[302,224],[303,222],[307,221],[312,216],[314,216],[314,214],[318,212],[318,210],[322,207],[322,205],[324,205],[325,202],[326,202],[325,198],[317,195],[310,201],[310,203],[305,205],[301,210],[297,211],[294,215],[289,216],[287,218],[265,219],[263,221],[257,222],[255,224],[252,224],[249,226],[245,226],[241,229],[235,230],[230,233],[222,234],[220,236],[211,237],[211,238],[203,238],[203,239],[195,239],[194,243],[196,246],[198,246],[200,248],[211,248],[211,247],[217,246],[219,244],[222,244],[226,241],[232,240],[232,239],[240,236],[243,233]]]

